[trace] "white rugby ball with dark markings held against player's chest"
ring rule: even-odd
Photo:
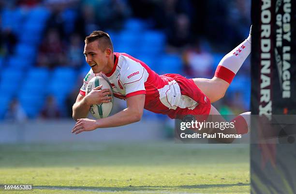
[[[87,86],[86,95],[89,94],[89,92],[93,89],[95,89],[98,86],[101,86],[101,89],[110,89],[111,90],[111,102],[110,103],[101,103],[101,104],[92,104],[89,108],[89,112],[92,114],[92,116],[96,119],[102,119],[106,118],[110,115],[113,107],[113,93],[112,89],[109,85],[109,83],[100,76],[93,77]]]

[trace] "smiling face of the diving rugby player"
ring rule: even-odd
[[[106,51],[102,51],[98,46],[98,41],[94,41],[84,46],[85,60],[91,67],[93,73],[98,74],[107,67],[108,54]]]

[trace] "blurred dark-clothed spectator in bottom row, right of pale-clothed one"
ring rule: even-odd
[[[43,119],[59,119],[61,117],[59,106],[53,95],[47,96],[44,107],[40,112],[40,116]]]

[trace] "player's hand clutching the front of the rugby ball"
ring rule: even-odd
[[[102,85],[94,88],[85,96],[86,104],[109,103],[112,99],[110,89],[101,90]]]

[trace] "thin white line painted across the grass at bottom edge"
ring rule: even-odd
[[[33,189],[49,189],[49,190],[65,190],[65,191],[89,191],[97,193],[118,193],[118,192],[130,192],[130,193],[141,193],[141,194],[201,194],[201,193],[187,193],[187,192],[169,192],[169,191],[116,191],[116,190],[100,190],[100,189],[79,189],[79,188],[69,188],[69,187],[51,187],[51,186],[34,186]]]

